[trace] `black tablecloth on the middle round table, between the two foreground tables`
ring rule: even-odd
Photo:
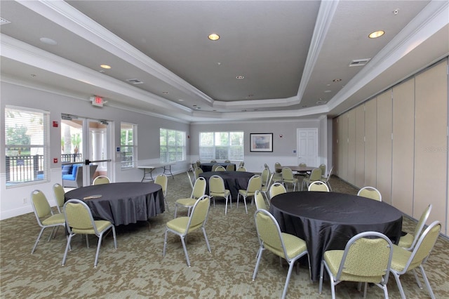
[[[209,194],[209,179],[212,175],[220,175],[225,182],[225,188],[231,192],[232,199],[237,199],[239,190],[246,190],[248,182],[254,173],[248,173],[246,171],[208,171],[200,173],[199,176],[206,178],[207,187],[206,194]]]

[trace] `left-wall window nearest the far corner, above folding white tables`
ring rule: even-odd
[[[161,128],[161,163],[185,161],[185,132]]]

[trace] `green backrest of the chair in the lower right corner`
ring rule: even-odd
[[[429,256],[430,252],[434,248],[436,239],[440,234],[441,223],[434,221],[427,227],[418,239],[415,248],[413,248],[412,254],[404,267],[403,272],[415,269],[420,266],[424,260]]]

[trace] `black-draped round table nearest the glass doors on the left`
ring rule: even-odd
[[[95,219],[117,225],[147,221],[165,211],[161,185],[152,182],[114,182],[80,187],[65,193],[65,201],[81,199]]]

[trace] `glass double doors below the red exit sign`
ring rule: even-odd
[[[107,121],[69,114],[62,114],[61,119],[63,187],[92,185],[93,179],[98,175],[111,178]]]

